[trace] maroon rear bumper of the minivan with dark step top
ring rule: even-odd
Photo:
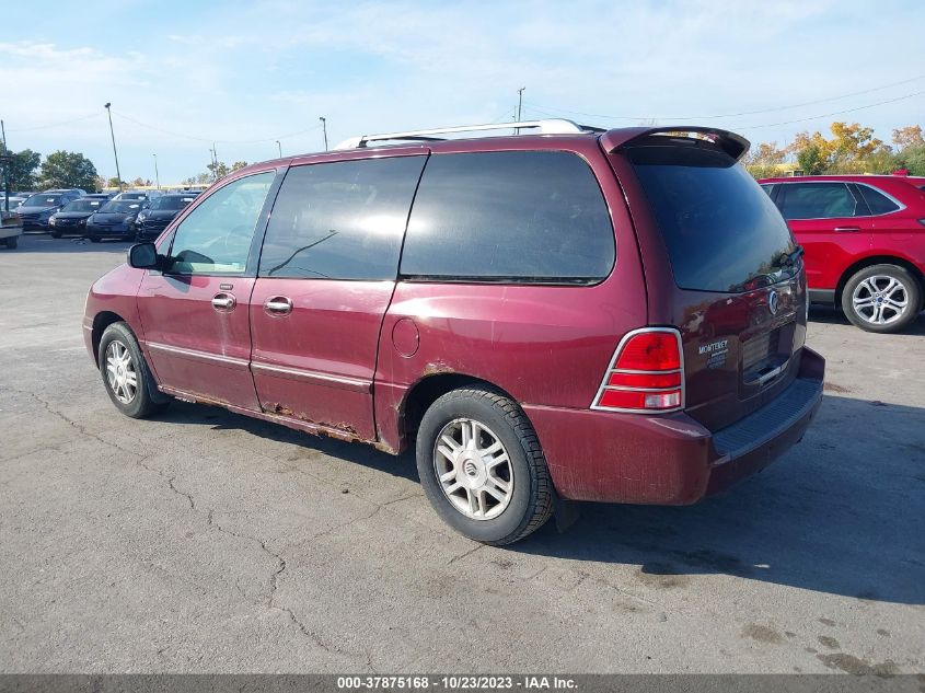
[[[822,401],[825,361],[803,349],[777,397],[709,431],[683,412],[638,416],[524,406],[557,493],[574,500],[687,505],[773,462],[802,438]]]

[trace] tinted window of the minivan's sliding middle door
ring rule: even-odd
[[[296,166],[286,174],[261,255],[261,277],[395,279],[426,157]]]

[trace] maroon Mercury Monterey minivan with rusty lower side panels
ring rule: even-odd
[[[824,361],[748,141],[514,125],[533,134],[365,136],[213,185],[90,290],[113,403],[415,444],[437,512],[489,544],[568,500],[691,504],[799,441]]]

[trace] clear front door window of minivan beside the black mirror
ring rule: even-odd
[[[275,171],[248,175],[204,199],[176,228],[171,274],[243,274]]]

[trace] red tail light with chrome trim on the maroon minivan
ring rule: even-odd
[[[634,330],[620,340],[592,409],[677,412],[684,408],[681,333],[671,327]]]

